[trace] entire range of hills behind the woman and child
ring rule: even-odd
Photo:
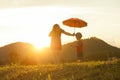
[[[120,58],[120,49],[111,46],[101,39],[91,37],[83,39],[84,43],[84,60],[106,60],[113,57]],[[75,44],[70,42],[62,45],[62,61],[73,62],[77,59]],[[52,55],[50,49],[36,50],[30,43],[15,42],[0,48],[0,64],[8,63],[22,63],[22,64],[36,64],[36,63],[51,63]]]

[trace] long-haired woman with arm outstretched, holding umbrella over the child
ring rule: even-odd
[[[51,37],[51,44],[50,48],[54,55],[54,62],[59,63],[60,62],[60,55],[61,55],[61,34],[64,33],[68,36],[75,36],[75,33],[71,34],[69,32],[64,31],[60,28],[58,24],[54,24],[51,32],[49,33],[49,36]]]

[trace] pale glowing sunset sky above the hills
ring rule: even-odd
[[[49,46],[48,34],[55,23],[74,32],[62,24],[71,17],[88,23],[87,27],[75,29],[84,39],[97,37],[120,47],[120,0],[0,0],[0,46],[13,42]],[[63,44],[74,40],[62,35]]]

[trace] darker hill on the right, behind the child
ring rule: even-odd
[[[75,47],[71,46],[74,42],[63,45],[63,55],[70,56],[72,59],[76,59]],[[105,60],[113,57],[120,57],[120,48],[109,45],[105,41],[96,37],[83,39],[84,44],[84,59],[85,60]],[[75,54],[75,55],[74,55]]]

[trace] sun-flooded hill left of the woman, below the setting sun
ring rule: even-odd
[[[37,50],[26,42],[15,42],[0,48],[0,64],[38,64],[50,60],[49,48]],[[48,58],[49,57],[49,58]]]

